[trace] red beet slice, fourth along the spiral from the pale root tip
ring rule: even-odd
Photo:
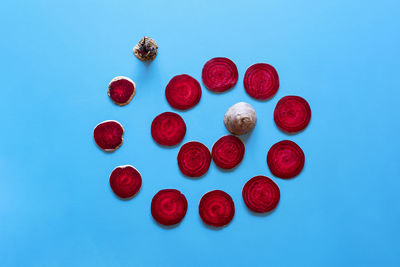
[[[169,81],[165,96],[171,107],[185,110],[199,103],[201,87],[193,77],[187,74],[177,75]]]

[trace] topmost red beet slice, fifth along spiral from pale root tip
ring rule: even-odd
[[[235,63],[226,57],[215,57],[207,61],[201,75],[204,85],[214,92],[231,89],[237,83],[238,76]]]

